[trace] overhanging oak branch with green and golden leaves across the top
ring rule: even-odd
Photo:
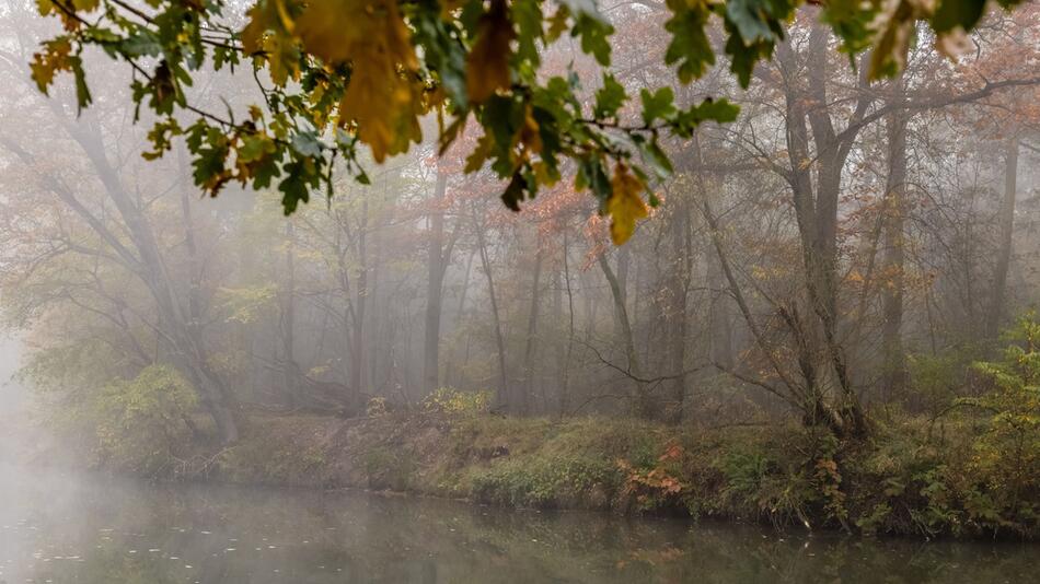
[[[719,46],[747,86],[800,3],[667,0],[665,63],[686,84],[715,65]],[[985,10],[984,0],[817,3],[843,50],[874,49],[871,78],[899,71],[918,22],[945,46],[975,26]],[[1010,8],[1016,0],[999,3]],[[661,141],[737,115],[725,98],[681,107],[663,86],[640,92],[634,104],[642,106],[638,121],[621,119],[635,96],[609,71],[614,28],[594,0],[256,0],[244,27],[230,24],[234,11],[223,0],[37,4],[41,14],[63,25],[33,60],[41,91],[56,73],[69,72],[79,106],[89,106],[82,55],[100,47],[129,65],[138,110],[157,116],[147,157],[161,156],[183,137],[195,182],[208,194],[232,180],[276,185],[287,213],[323,186],[331,192],[334,166],[367,183],[360,148],[368,147],[375,162],[407,152],[423,139],[420,118],[436,114],[441,152],[469,119],[476,120],[483,137],[466,172],[490,168],[506,182],[507,207],[518,210],[573,170],[576,186],[589,189],[611,215],[612,237],[621,244],[647,214],[647,203],[657,205],[648,186],[671,172]],[[721,31],[721,40],[713,40],[714,30]],[[574,71],[544,74],[544,49],[563,36],[604,69],[591,106],[576,97],[590,80]],[[187,98],[199,71],[233,71],[243,62],[274,82],[258,83],[264,103],[250,107],[244,119]]]

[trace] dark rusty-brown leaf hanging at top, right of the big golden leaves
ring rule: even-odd
[[[481,16],[476,42],[466,57],[466,94],[473,103],[483,103],[497,90],[509,89],[509,43],[516,33],[505,0],[493,0],[492,9]]]

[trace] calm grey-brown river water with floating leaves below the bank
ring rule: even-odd
[[[0,583],[1036,582],[1040,547],[0,466]]]

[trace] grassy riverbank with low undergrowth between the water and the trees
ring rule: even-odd
[[[980,457],[978,435],[964,423],[913,418],[853,443],[796,424],[695,430],[592,417],[252,413],[236,445],[176,457],[161,475],[866,535],[1035,539],[1036,481],[1010,484],[1007,460]]]

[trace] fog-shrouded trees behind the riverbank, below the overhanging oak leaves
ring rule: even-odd
[[[88,56],[94,105],[77,116],[70,83],[46,98],[26,73],[51,23],[18,3],[5,14],[3,314],[47,399],[165,363],[216,418],[223,402],[350,416],[453,387],[489,390],[510,413],[742,408],[732,416],[750,421],[805,407],[804,387],[920,401],[900,381],[908,355],[996,339],[1037,301],[1036,94],[993,89],[1030,72],[993,54],[1019,34],[1010,17],[957,63],[915,48],[900,89],[912,102],[893,114],[891,87],[857,89],[804,26],[749,91],[723,71],[683,89],[733,93],[743,113],[670,147],[683,170],[615,247],[566,180],[505,209],[500,184],[460,172],[465,140],[372,166],[369,187],[344,174],[288,219],[275,190],[200,198],[183,145],[139,155],[148,119],[132,122],[123,67]],[[622,63],[640,58],[624,31]],[[790,126],[784,104],[806,98],[790,92],[818,90],[776,81],[819,50],[827,120]],[[255,86],[241,77],[204,77],[193,98],[244,107]],[[812,168],[790,153],[796,130],[812,137]],[[813,233],[835,261],[825,330],[798,252]]]

